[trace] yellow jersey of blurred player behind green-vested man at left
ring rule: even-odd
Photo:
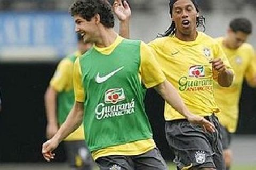
[[[74,57],[81,56],[81,52],[77,51],[72,55]],[[50,86],[60,94],[61,92],[68,92],[73,89],[73,64],[74,62],[70,60],[70,57],[66,57],[60,61],[58,64],[57,70],[55,71],[51,81]],[[67,96],[66,96],[67,97]],[[65,99],[68,104],[62,104],[66,106],[58,106],[58,108],[63,107],[66,109],[71,109],[73,106],[74,99]],[[67,111],[68,112],[68,111]],[[71,133],[65,141],[73,140],[84,140],[83,126]]]

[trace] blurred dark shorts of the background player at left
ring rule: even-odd
[[[69,165],[73,169],[93,170],[94,161],[84,140],[65,141]]]

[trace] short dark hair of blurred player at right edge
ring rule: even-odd
[[[230,22],[229,27],[233,32],[252,33],[252,23],[247,18],[235,18]]]

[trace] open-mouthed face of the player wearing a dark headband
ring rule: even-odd
[[[172,9],[172,21],[175,22],[176,35],[196,35],[198,12],[191,0],[177,0]]]

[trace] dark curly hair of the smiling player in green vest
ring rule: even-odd
[[[69,7],[71,16],[81,16],[91,21],[95,14],[100,15],[100,22],[107,28],[114,27],[114,15],[107,0],[77,0]]]

